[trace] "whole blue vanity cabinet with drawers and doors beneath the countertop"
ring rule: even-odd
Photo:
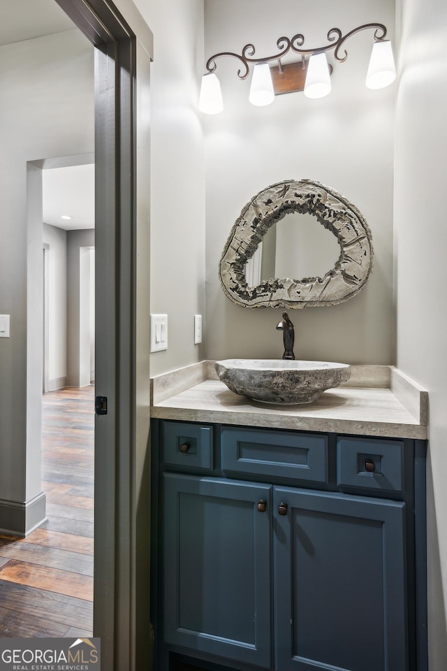
[[[425,442],[152,433],[157,671],[427,671]]]

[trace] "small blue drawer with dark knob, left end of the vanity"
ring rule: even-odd
[[[164,463],[212,470],[212,426],[163,421],[161,431]]]

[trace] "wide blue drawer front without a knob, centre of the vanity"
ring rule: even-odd
[[[328,482],[328,438],[314,433],[223,428],[222,470]]]

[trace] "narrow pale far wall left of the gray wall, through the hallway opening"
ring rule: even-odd
[[[43,242],[50,245],[48,252],[48,377],[50,382],[67,375],[67,233],[57,226],[43,224]]]

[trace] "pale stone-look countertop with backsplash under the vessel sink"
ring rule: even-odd
[[[151,417],[383,438],[427,438],[427,391],[393,366],[353,366],[346,386],[328,389],[306,405],[249,401],[233,394],[215,377],[210,362],[153,377]]]

